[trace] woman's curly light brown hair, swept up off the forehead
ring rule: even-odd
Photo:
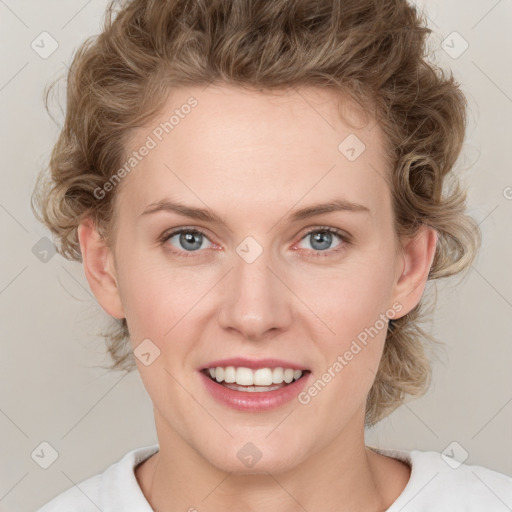
[[[465,136],[466,99],[452,73],[427,60],[426,25],[406,0],[111,0],[103,31],[83,42],[67,73],[65,122],[51,175],[38,176],[34,214],[63,257],[82,261],[83,219],[93,219],[109,247],[115,239],[116,193],[98,200],[94,191],[126,161],[130,134],[172,88],[328,88],[364,106],[383,130],[397,235],[414,235],[422,224],[437,231],[429,280],[462,273],[481,243],[466,192],[450,173]],[[57,82],[46,90],[47,109]],[[389,323],[367,426],[428,389],[425,342],[439,341],[420,325],[424,298]],[[102,334],[109,368],[133,370],[126,319]]]

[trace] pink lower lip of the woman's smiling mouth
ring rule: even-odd
[[[300,379],[273,391],[250,392],[226,388],[204,372],[199,373],[206,389],[216,400],[238,411],[247,412],[268,411],[293,400],[304,389],[311,375],[311,372],[307,372]]]

